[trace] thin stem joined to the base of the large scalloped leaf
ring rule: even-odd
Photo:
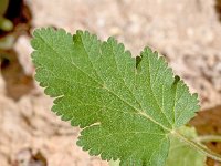
[[[197,151],[201,152],[202,154],[207,155],[208,157],[221,162],[221,155],[217,154],[212,151],[210,151],[209,148],[207,148],[206,146],[203,146],[200,143],[197,143],[192,139],[189,139],[188,137],[186,137],[185,135],[178,133],[178,132],[172,132],[173,135],[176,135],[177,137],[179,137],[181,141],[186,142],[188,145],[190,145],[191,147],[196,148]]]

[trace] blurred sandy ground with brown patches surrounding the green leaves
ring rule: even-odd
[[[134,55],[157,50],[199,93],[191,125],[221,134],[221,0],[0,0],[0,166],[107,166],[75,145],[78,128],[50,111],[33,80],[30,39],[41,27],[114,35]]]

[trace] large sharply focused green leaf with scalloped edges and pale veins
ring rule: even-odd
[[[35,79],[52,107],[82,129],[77,145],[122,166],[166,164],[170,133],[199,110],[197,95],[146,48],[133,58],[114,38],[64,30],[34,31]]]

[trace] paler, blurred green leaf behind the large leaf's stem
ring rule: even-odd
[[[193,127],[183,126],[179,131],[188,138],[197,138],[197,132]],[[204,166],[206,155],[191,148],[176,137],[170,137],[170,142],[171,145],[166,166]]]

